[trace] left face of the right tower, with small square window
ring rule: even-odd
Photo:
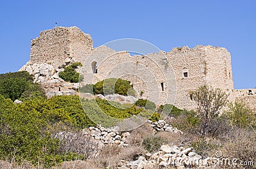
[[[186,109],[195,108],[195,104],[189,97],[189,91],[196,90],[200,85],[205,84],[202,48],[200,46],[193,49],[188,47],[173,48],[166,53],[166,57],[172,65],[177,82],[175,106]],[[188,77],[184,77],[184,73],[188,73]]]

